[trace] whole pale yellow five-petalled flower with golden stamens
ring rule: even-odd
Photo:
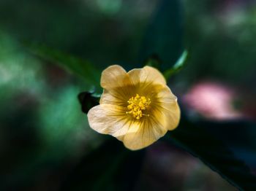
[[[99,105],[88,113],[89,125],[123,141],[128,149],[147,147],[177,127],[177,98],[157,69],[145,66],[127,72],[109,66],[100,85],[104,90]]]

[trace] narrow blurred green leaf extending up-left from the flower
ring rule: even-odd
[[[73,55],[54,50],[42,44],[25,44],[31,52],[40,58],[56,63],[72,74],[77,74],[84,82],[94,85],[99,89],[99,79],[101,72],[88,61],[77,58]]]

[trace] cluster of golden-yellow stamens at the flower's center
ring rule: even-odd
[[[143,110],[147,109],[150,103],[150,98],[147,99],[145,96],[136,94],[135,97],[130,98],[128,101],[127,109],[129,112],[127,114],[132,114],[137,120],[140,120],[143,115],[149,116],[149,114],[143,114]]]

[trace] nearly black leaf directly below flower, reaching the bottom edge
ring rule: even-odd
[[[129,151],[111,137],[80,160],[61,190],[134,190],[144,152]]]

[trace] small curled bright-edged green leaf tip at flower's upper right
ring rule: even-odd
[[[184,50],[181,57],[178,58],[178,61],[176,61],[173,67],[164,72],[165,79],[169,79],[173,74],[176,74],[178,71],[180,71],[185,66],[187,58],[188,52],[187,50]]]

